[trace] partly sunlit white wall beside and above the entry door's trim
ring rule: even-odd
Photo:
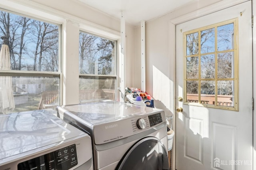
[[[175,46],[175,27],[170,26],[170,20],[220,1],[225,0],[195,0],[160,18],[146,21],[146,91],[166,115],[175,112],[175,51],[170,50]],[[136,27],[135,32],[139,30],[140,27]],[[136,38],[140,41],[140,37]]]

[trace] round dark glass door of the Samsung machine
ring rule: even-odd
[[[168,154],[161,140],[146,137],[126,152],[116,170],[169,170],[168,166]]]

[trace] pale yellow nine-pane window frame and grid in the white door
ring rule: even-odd
[[[225,50],[225,51],[218,51],[217,50],[217,27],[219,26],[224,26],[224,25],[227,25],[227,24],[234,24],[234,48],[232,50]],[[200,57],[202,55],[207,55],[208,53],[200,53],[200,49],[201,49],[201,45],[200,45],[200,32],[201,31],[204,31],[204,30],[208,30],[208,29],[211,29],[211,28],[215,28],[215,51],[214,52],[211,52],[211,53],[214,53],[215,54],[215,77],[213,79],[201,79],[200,75],[201,75],[201,61],[200,61]],[[195,33],[195,32],[198,32],[198,54],[196,55],[186,55],[186,36],[188,34],[192,34],[192,33]],[[227,20],[227,21],[224,21],[224,22],[220,22],[220,23],[216,23],[216,24],[212,24],[212,25],[209,25],[209,26],[205,26],[205,27],[202,27],[202,28],[197,28],[197,29],[194,29],[194,30],[190,30],[190,31],[187,31],[187,32],[184,32],[183,33],[183,43],[184,43],[184,88],[183,88],[183,94],[184,94],[184,102],[183,104],[185,105],[194,105],[194,106],[200,106],[200,107],[209,107],[209,108],[215,108],[215,109],[225,109],[225,110],[231,110],[231,111],[238,111],[238,99],[239,99],[239,88],[238,88],[238,83],[239,83],[239,79],[238,79],[238,74],[239,74],[239,63],[238,63],[238,59],[239,59],[239,56],[238,56],[238,18],[234,18],[234,19],[231,19],[231,20]],[[226,78],[226,79],[223,79],[223,78],[218,78],[217,77],[217,70],[218,70],[218,62],[217,62],[217,58],[218,58],[218,53],[223,53],[223,52],[229,52],[229,51],[233,51],[234,52],[234,78]],[[198,56],[198,79],[187,79],[187,75],[186,75],[186,71],[187,71],[187,65],[186,65],[186,60],[187,60],[187,57],[193,57],[193,56]],[[188,102],[187,101],[187,88],[186,88],[186,85],[187,85],[187,81],[188,80],[195,80],[195,81],[198,81],[198,103],[193,103],[193,102]],[[214,94],[214,97],[215,97],[215,103],[214,105],[210,105],[210,104],[204,104],[204,103],[201,103],[201,84],[200,82],[201,81],[207,81],[207,80],[212,80],[212,81],[215,81],[215,94]],[[232,80],[234,81],[234,91],[233,92],[233,105],[234,106],[221,106],[221,105],[218,105],[218,87],[217,87],[217,81],[219,80]]]

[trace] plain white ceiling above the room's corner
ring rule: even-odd
[[[192,0],[79,0],[84,4],[125,21],[138,25],[141,20],[151,20],[173,11]]]

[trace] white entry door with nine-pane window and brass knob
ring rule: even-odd
[[[176,26],[176,170],[252,170],[251,16],[247,1]]]

